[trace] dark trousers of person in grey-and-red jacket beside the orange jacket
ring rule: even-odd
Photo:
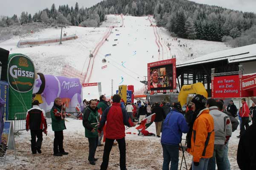
[[[224,145],[214,145],[213,157],[209,159],[207,170],[216,170],[216,164],[218,170],[226,170],[224,163]]]

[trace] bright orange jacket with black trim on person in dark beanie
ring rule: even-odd
[[[201,110],[193,125],[191,148],[187,150],[193,155],[193,162],[213,156],[215,132],[213,117],[209,112],[208,108]]]

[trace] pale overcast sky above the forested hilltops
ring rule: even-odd
[[[0,0],[0,16],[20,16],[22,11],[27,11],[30,14],[42,10],[46,7],[51,8],[52,3],[55,3],[58,9],[59,5],[68,4],[69,7],[75,6],[78,2],[79,7],[91,7],[101,0]],[[239,11],[256,12],[256,0],[191,0],[197,3],[209,5],[217,5],[225,8],[231,8]]]

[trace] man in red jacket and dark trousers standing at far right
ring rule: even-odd
[[[249,127],[249,113],[250,109],[246,103],[245,98],[242,98],[242,111],[240,113],[240,117],[242,117],[242,123],[241,123],[241,129],[240,129],[240,135],[237,136],[238,138],[241,137],[241,135],[244,133],[245,128],[247,129]],[[245,126],[245,128],[244,128]]]

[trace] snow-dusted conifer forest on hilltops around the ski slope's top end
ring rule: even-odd
[[[91,8],[79,8],[78,3],[45,8],[31,15],[2,16],[0,27],[43,23],[98,27],[106,14],[132,16],[154,15],[158,26],[167,28],[173,36],[188,39],[222,41],[232,47],[256,43],[256,14],[234,11],[187,0],[104,0]],[[0,32],[1,33],[1,32]]]

